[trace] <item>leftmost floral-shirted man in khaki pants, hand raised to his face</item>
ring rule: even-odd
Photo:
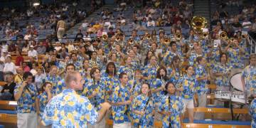
[[[38,92],[33,84],[33,75],[24,73],[21,84],[14,89],[14,98],[17,101],[17,127],[35,128],[37,127],[36,97]]]

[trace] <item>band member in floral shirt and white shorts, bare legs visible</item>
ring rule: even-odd
[[[178,80],[178,89],[181,91],[181,97],[183,100],[183,104],[188,109],[188,119],[189,122],[193,123],[193,108],[194,102],[193,97],[196,92],[196,80],[193,77],[193,66],[188,65],[186,67],[186,75],[183,76],[180,80]],[[196,101],[196,100],[195,100]]]

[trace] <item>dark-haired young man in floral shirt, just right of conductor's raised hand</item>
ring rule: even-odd
[[[114,87],[112,95],[112,116],[114,118],[113,128],[129,128],[129,105],[131,104],[129,87],[127,86],[128,75],[119,74],[120,84]]]

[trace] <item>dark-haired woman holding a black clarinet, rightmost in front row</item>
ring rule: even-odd
[[[173,83],[167,82],[165,85],[166,95],[161,98],[159,113],[162,114],[162,125],[164,128],[181,127],[181,115],[184,105],[181,97],[176,94],[176,87]]]

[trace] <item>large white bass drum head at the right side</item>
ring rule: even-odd
[[[242,80],[241,80],[242,73],[235,73],[230,78],[230,85],[238,91],[243,91],[242,89]]]

